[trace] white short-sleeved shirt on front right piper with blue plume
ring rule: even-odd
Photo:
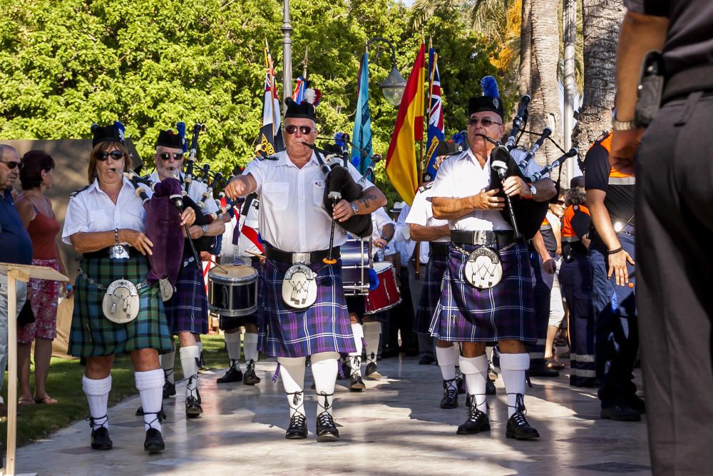
[[[515,161],[521,161],[526,152],[520,149],[511,151]],[[531,176],[540,171],[540,166],[535,161],[530,161],[523,174]],[[436,181],[431,188],[431,198],[465,198],[487,190],[490,187],[491,159],[481,167],[478,159],[471,149],[467,149],[455,156],[446,158],[438,168]],[[478,231],[478,230],[512,230],[513,227],[503,218],[500,211],[475,210],[456,220],[448,220],[451,230]]]

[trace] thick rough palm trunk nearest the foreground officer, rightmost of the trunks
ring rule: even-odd
[[[580,157],[612,126],[617,41],[625,11],[622,0],[582,0],[582,6],[584,92],[572,133],[572,145],[580,150]]]

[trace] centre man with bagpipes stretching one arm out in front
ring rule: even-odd
[[[290,415],[285,437],[307,437],[303,389],[309,356],[318,395],[317,441],[330,442],[339,439],[332,417],[339,353],[355,350],[339,260],[339,245],[347,234],[334,223],[366,216],[370,224],[369,214],[384,206],[386,198],[367,181],[351,202],[332,195],[329,213],[325,190],[338,192],[332,191],[334,181],[329,181],[335,169],[330,171],[322,153],[313,150],[317,139],[314,106],[297,104],[291,98],[285,102],[285,150],[252,161],[242,176],[230,181],[225,193],[236,198],[257,191],[260,198],[260,235],[267,255],[260,350],[277,357],[279,363]],[[354,181],[361,178],[350,163],[341,167],[337,166],[339,171]],[[346,190],[341,195],[349,196]]]

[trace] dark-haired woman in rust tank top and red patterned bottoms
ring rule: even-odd
[[[22,223],[32,240],[32,264],[54,268],[67,274],[55,242],[59,222],[54,216],[52,202],[44,196],[52,188],[54,161],[43,151],[29,151],[22,156],[20,183],[23,193],[16,199]],[[46,383],[52,341],[57,336],[57,305],[60,295],[66,295],[66,285],[58,281],[31,279],[28,297],[35,316],[17,330],[17,356],[20,375],[20,405],[46,403],[57,400],[47,394]],[[35,341],[35,393],[30,388],[30,351]]]

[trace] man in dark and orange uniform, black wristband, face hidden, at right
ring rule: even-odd
[[[602,418],[639,421],[634,360],[639,349],[634,275],[635,178],[609,164],[611,134],[597,138],[585,158],[592,217],[589,262],[595,319],[595,362]]]

